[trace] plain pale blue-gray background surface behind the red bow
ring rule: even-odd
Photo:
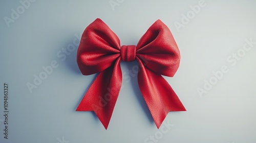
[[[187,111],[169,112],[164,122],[173,127],[158,142],[256,141],[256,44],[236,65],[227,62],[245,39],[256,41],[256,1],[205,0],[206,6],[180,31],[174,23],[181,23],[182,14],[199,1],[125,0],[113,10],[109,1],[37,0],[9,28],[4,17],[11,17],[11,9],[16,11],[21,4],[0,3],[0,142],[142,143],[161,131],[141,97],[137,77],[123,81],[108,130],[93,112],[75,112],[95,75],[80,74],[76,50],[64,61],[57,53],[96,18],[118,35],[121,45],[137,44],[157,19],[175,37],[181,64],[174,78],[165,79]],[[59,66],[30,93],[26,83],[33,83],[33,75],[53,60]],[[136,65],[122,62],[122,72]],[[228,73],[200,96],[197,88],[223,65]],[[3,135],[4,82],[9,84],[9,139]]]

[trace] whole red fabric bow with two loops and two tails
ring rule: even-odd
[[[180,52],[172,33],[157,20],[138,44],[122,45],[117,35],[99,18],[84,30],[77,51],[83,75],[99,73],[76,111],[94,111],[108,128],[122,84],[120,62],[139,63],[138,84],[157,128],[169,111],[186,111],[176,93],[161,76],[173,77]]]

